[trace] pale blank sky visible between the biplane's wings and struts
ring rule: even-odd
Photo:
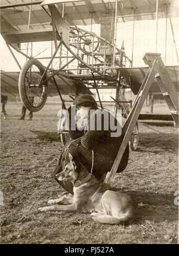
[[[175,42],[179,55],[179,18],[172,18],[172,25],[174,29]],[[121,48],[122,41],[124,41],[125,53],[130,59],[132,57],[132,26],[133,22],[118,23],[117,26],[117,46]],[[81,26],[81,28],[84,28]],[[86,28],[90,31],[91,26]],[[93,25],[92,31],[100,35],[100,26]],[[134,31],[134,65],[145,66],[143,56],[146,52],[155,52],[156,49],[156,21],[155,20],[140,20],[135,22]],[[39,44],[42,47],[42,42]],[[174,39],[171,32],[171,26],[168,20],[167,27],[167,50],[166,50],[166,65],[179,65],[177,61],[177,54],[175,51]],[[45,45],[43,45],[45,47]],[[50,47],[50,45],[49,45]],[[0,37],[0,67],[4,71],[19,71],[16,62],[11,56],[10,51],[5,44],[2,36]],[[165,19],[158,20],[158,53],[161,53],[163,62],[165,63]],[[20,64],[26,62],[26,58],[21,54],[16,53],[16,57]]]

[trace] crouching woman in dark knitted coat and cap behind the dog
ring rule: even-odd
[[[75,121],[75,116],[72,115],[72,108],[76,107],[76,117],[78,121],[75,123],[75,129],[72,129],[72,123]],[[67,153],[70,152],[73,158],[80,161],[87,167],[89,173],[95,176],[100,181],[103,181],[107,172],[110,172],[112,165],[118,154],[119,147],[122,142],[121,133],[118,136],[113,136],[117,131],[111,129],[111,125],[106,122],[115,120],[115,127],[118,121],[116,118],[111,118],[111,114],[104,110],[98,109],[97,103],[91,95],[80,95],[76,97],[73,106],[69,109],[69,134],[70,141],[67,142],[63,154],[57,168],[53,173],[53,177],[63,170],[67,164]],[[103,114],[101,114],[103,112]],[[107,115],[105,114],[107,112]],[[108,116],[108,119],[106,117]],[[118,123],[119,124],[119,123]],[[129,147],[126,147],[121,163],[118,167],[118,172],[122,172],[129,157]],[[69,193],[73,194],[73,185],[70,182],[57,182]]]

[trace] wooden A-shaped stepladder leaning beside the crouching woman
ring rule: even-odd
[[[146,53],[143,57],[144,62],[149,65],[149,70],[147,71],[146,77],[141,84],[138,95],[135,99],[134,105],[132,106],[131,112],[122,129],[122,144],[119,148],[116,159],[113,163],[110,172],[107,172],[104,182],[110,182],[115,177],[115,173],[118,170],[119,163],[121,162],[122,156],[124,154],[125,148],[128,145],[131,133],[134,130],[134,126],[137,123],[138,116],[140,114],[141,108],[143,107],[144,101],[149,93],[150,86],[152,84],[153,78],[156,79],[159,88],[166,100],[166,103],[171,111],[171,115],[178,127],[178,92],[169,77],[168,71],[162,62],[161,54],[159,53]]]

